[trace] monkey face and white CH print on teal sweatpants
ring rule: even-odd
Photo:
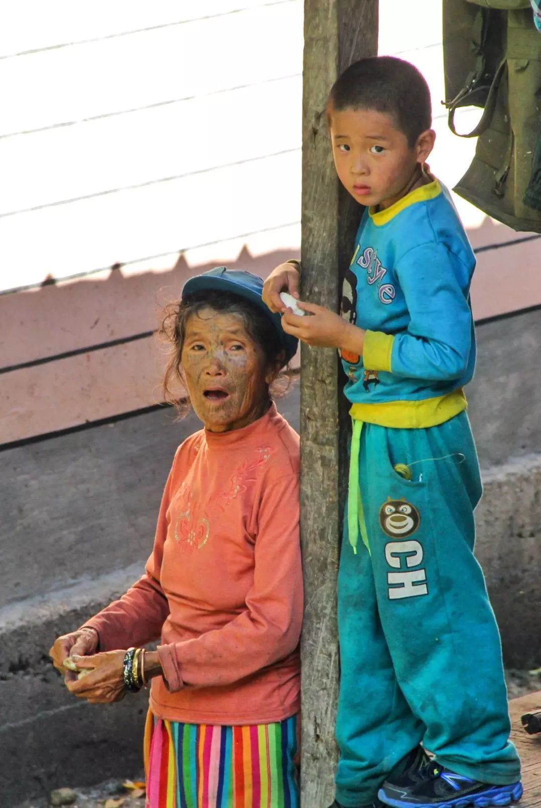
[[[393,539],[385,545],[385,560],[392,572],[387,573],[388,599],[403,600],[428,595],[426,570],[421,568],[423,549],[419,541],[403,541],[421,524],[421,514],[405,499],[391,499],[380,507],[380,526]]]

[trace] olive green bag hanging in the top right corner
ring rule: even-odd
[[[443,0],[449,126],[482,107],[459,196],[515,230],[541,233],[541,36],[529,0]]]

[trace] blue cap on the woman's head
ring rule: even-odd
[[[282,328],[281,316],[273,314],[271,309],[262,301],[263,281],[251,272],[241,269],[226,269],[225,267],[215,267],[203,272],[203,275],[196,275],[184,284],[182,288],[182,300],[194,295],[196,292],[229,292],[238,297],[244,297],[258,307],[265,314],[279,337],[286,358],[283,364],[296,355],[299,340],[286,334]]]

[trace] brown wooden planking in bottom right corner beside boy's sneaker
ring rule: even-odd
[[[520,720],[524,713],[539,709],[541,690],[510,701],[511,739],[522,761],[522,808],[536,808],[541,805],[541,735],[527,734]]]

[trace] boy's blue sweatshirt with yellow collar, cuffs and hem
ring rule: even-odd
[[[464,409],[476,358],[475,263],[438,180],[365,211],[342,297],[342,317],[367,329],[362,357],[342,351],[354,418],[428,427]]]

